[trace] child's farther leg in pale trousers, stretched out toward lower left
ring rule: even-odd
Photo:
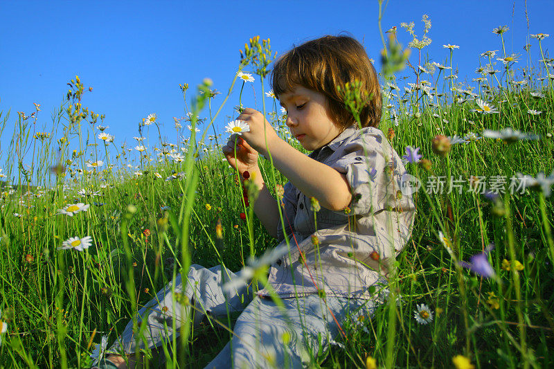
[[[190,316],[193,316],[193,325],[197,326],[206,313],[220,316],[226,314],[228,308],[229,312],[242,311],[244,306],[251,301],[251,291],[247,293],[247,285],[238,287],[236,293],[229,294],[227,298],[222,293],[222,284],[233,278],[236,278],[235,274],[227,269],[224,270],[222,278],[220,266],[206,269],[196,264],[192,265],[186,287],[182,284],[181,275],[177,276],[175,295],[186,296],[194,309],[191,310],[189,305],[181,305],[178,298],[176,298],[175,304],[173,303],[174,294],[172,294],[172,283],[170,282],[139,311],[137,317],[139,327],[141,322],[146,319],[143,334],[137,336],[133,331],[133,322],[129,321],[108,352],[128,355],[145,347],[154,350],[161,346],[162,341],[170,343],[173,335],[179,334],[181,323],[184,323],[185,319]],[[184,312],[184,316],[181,316],[182,312]],[[172,327],[173,321],[175,321],[175,331]]]

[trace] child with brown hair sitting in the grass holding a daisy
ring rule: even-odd
[[[367,97],[359,124],[341,93],[347,82],[358,83],[361,96]],[[287,111],[291,134],[312,153],[306,156],[288,145],[253,109],[244,109],[237,118],[249,125],[249,132],[233,137],[223,152],[260,189],[254,211],[269,234],[283,240],[286,233],[290,240],[287,254],[271,265],[268,278],[284,309],[269,298],[267,287],[253,299],[246,284],[225,296],[219,267],[193,265],[186,286],[179,276],[175,289],[162,289],[140,312],[150,312],[145,336],[154,348],[172,336],[172,320],[179,321],[177,327],[181,323],[181,305],[173,292],[188,296],[195,325],[204,314],[242,311],[233,339],[206,368],[299,368],[310,363],[328,348],[349,314],[373,314],[380,298],[368,287],[386,284],[388,264],[411,234],[413,201],[400,191],[402,162],[377,129],[380,88],[364,47],[346,36],[306,42],[280,57],[271,85]],[[258,154],[271,155],[289,179],[282,205],[284,229]],[[283,240],[278,247],[285,244]],[[237,278],[223,272],[225,280]],[[114,345],[127,353],[136,349],[129,325]],[[123,358],[110,360],[124,367]]]

